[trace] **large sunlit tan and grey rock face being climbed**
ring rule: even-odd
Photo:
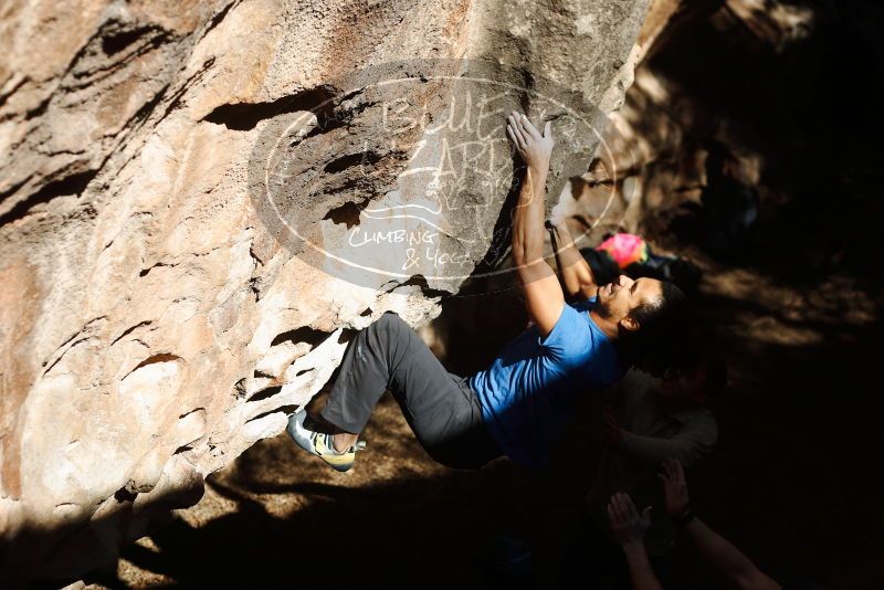
[[[493,271],[504,113],[554,120],[558,193],[646,4],[7,2],[3,579],[113,561],[281,432],[354,330]]]

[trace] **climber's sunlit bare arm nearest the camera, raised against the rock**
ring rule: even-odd
[[[528,314],[546,337],[565,307],[565,294],[556,273],[544,260],[544,192],[552,154],[552,129],[547,123],[540,135],[525,115],[513,113],[507,118],[506,133],[528,167],[513,211],[513,262]]]

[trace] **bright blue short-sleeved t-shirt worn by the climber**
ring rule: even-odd
[[[529,327],[470,378],[488,432],[513,461],[544,465],[573,401],[622,377],[613,343],[589,317],[594,306],[594,298],[566,304],[546,339]]]

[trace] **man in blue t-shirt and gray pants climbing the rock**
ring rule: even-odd
[[[526,165],[513,213],[513,262],[533,325],[470,378],[448,372],[394,314],[360,331],[319,411],[308,415],[302,409],[288,422],[298,445],[338,471],[352,466],[364,445],[358,435],[387,389],[427,452],[444,465],[478,467],[501,455],[543,465],[572,402],[620,379],[629,365],[622,345],[643,337],[682,298],[677,288],[653,278],[619,276],[599,287],[575,251],[582,264],[565,266],[578,273],[579,291],[594,296],[567,304],[544,260],[551,125],[540,134],[513,113],[506,131]]]

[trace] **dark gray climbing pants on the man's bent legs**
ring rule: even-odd
[[[386,390],[439,463],[475,468],[501,455],[466,379],[446,371],[414,330],[389,312],[350,341],[320,415],[359,433]]]

